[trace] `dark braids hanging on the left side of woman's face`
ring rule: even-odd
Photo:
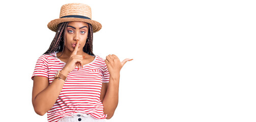
[[[63,22],[58,25],[58,29],[56,31],[55,37],[53,38],[49,49],[44,54],[63,51],[67,25],[68,25],[68,22]]]

